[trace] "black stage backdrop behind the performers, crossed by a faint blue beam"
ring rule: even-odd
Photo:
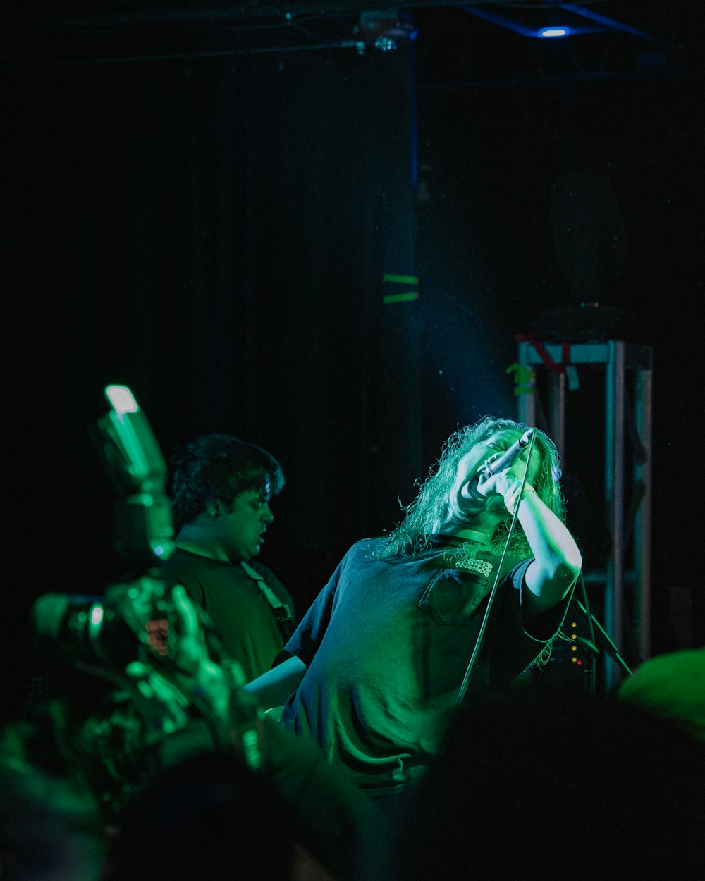
[[[515,335],[582,302],[653,346],[654,652],[705,641],[700,4],[583,4],[642,33],[565,41],[420,4],[396,52],[352,45],[354,4],[61,5],[10,16],[0,65],[12,679],[36,596],[121,571],[87,434],[108,382],[165,455],[221,431],[278,456],[260,559],[301,615],[456,426],[515,414]],[[419,300],[384,305],[385,273]],[[603,398],[572,394],[595,565]]]

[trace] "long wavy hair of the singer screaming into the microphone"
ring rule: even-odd
[[[498,432],[513,433],[517,437],[529,426],[513,419],[486,416],[471,426],[459,428],[443,445],[442,455],[431,469],[430,476],[420,483],[419,495],[404,508],[406,516],[394,529],[381,552],[390,557],[397,553],[420,552],[427,548],[428,538],[438,531],[438,523],[448,505],[450,488],[456,479],[457,465],[464,455],[481,441]],[[536,431],[534,452],[540,466],[534,481],[538,497],[561,521],[565,520],[565,502],[558,483],[560,478],[559,455],[553,441],[542,431]],[[507,537],[511,517],[501,522],[494,533],[494,545]],[[516,528],[510,550],[515,555],[528,551],[528,543],[521,528]]]

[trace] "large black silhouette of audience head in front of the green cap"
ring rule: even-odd
[[[701,877],[705,750],[672,722],[583,692],[463,707],[365,881]]]

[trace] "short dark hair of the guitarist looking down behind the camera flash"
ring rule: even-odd
[[[270,485],[278,495],[285,484],[281,465],[271,453],[232,434],[205,434],[172,457],[174,529],[178,532],[211,501],[230,504],[241,492]]]

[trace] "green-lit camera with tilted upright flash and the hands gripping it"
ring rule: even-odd
[[[137,575],[101,595],[40,596],[30,626],[42,656],[109,684],[78,741],[101,800],[119,806],[150,769],[194,749],[234,750],[258,769],[262,714],[207,614],[160,579],[174,550],[167,466],[130,389],[105,395],[112,410],[89,432],[118,493],[115,551]]]

